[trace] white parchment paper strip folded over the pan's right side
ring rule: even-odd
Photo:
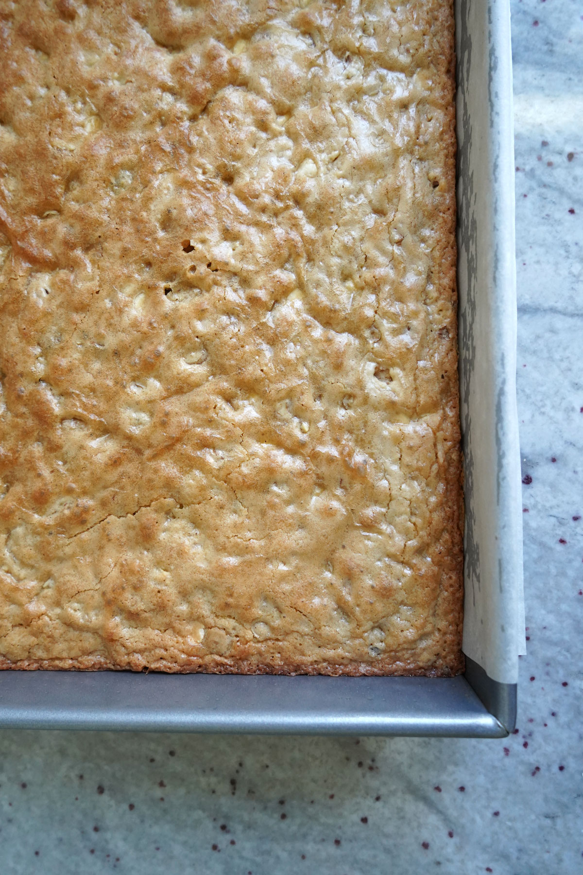
[[[508,0],[456,4],[463,650],[501,683],[524,653]]]

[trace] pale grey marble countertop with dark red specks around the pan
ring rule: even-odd
[[[2,875],[582,871],[583,7],[512,12],[529,637],[517,734],[3,732]]]

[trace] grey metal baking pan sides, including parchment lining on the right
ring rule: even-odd
[[[459,0],[456,49],[465,676],[3,671],[0,727],[476,738],[514,728],[524,623],[509,0]]]

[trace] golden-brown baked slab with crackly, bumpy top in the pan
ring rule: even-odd
[[[443,0],[0,0],[0,667],[462,668]]]

